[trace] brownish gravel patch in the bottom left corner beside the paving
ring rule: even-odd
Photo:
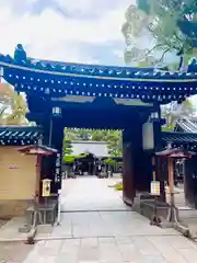
[[[0,263],[22,263],[33,248],[23,242],[0,242]]]

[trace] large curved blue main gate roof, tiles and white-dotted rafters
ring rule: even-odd
[[[20,92],[51,98],[69,95],[141,99],[169,103],[197,94],[197,71],[70,64],[0,55],[3,78]],[[194,67],[193,67],[194,68]]]

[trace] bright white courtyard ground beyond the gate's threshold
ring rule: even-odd
[[[97,179],[95,176],[65,180],[61,209],[66,211],[128,210],[130,208],[121,201],[121,192],[108,187],[120,180],[120,178]],[[69,185],[71,185],[70,188]]]

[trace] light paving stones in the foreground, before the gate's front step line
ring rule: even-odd
[[[197,245],[182,236],[39,241],[23,263],[196,263]]]

